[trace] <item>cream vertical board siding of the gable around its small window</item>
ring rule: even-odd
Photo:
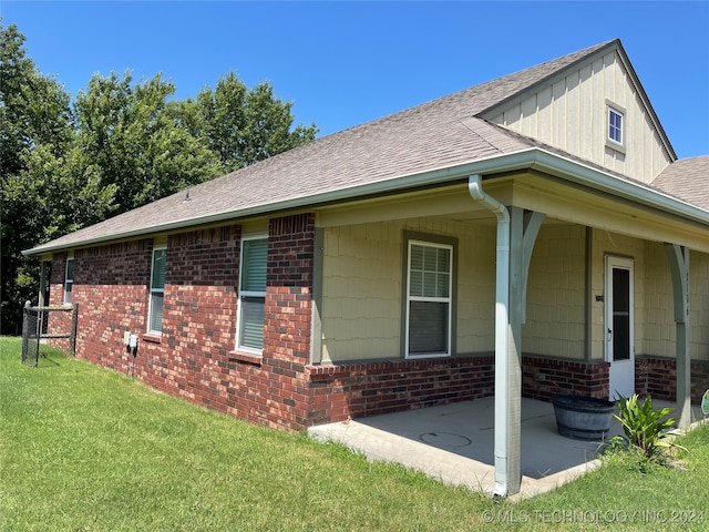
[[[625,153],[606,146],[607,103],[625,113]],[[628,177],[651,182],[670,162],[640,94],[615,52],[483,117]]]

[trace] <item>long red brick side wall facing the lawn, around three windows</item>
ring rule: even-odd
[[[240,237],[236,225],[168,237],[160,336],[146,334],[153,241],[76,250],[78,357],[257,424],[306,427],[315,216],[269,223],[263,357],[235,351]],[[65,264],[54,256],[53,305]],[[140,337],[135,358],[125,331]]]

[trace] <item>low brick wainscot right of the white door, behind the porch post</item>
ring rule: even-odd
[[[701,402],[701,396],[709,389],[709,361],[692,360],[689,365],[691,379],[691,401]],[[672,358],[636,357],[635,389],[653,399],[677,400],[677,364]]]

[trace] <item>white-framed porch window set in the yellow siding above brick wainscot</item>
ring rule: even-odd
[[[408,241],[405,356],[452,355],[452,244]]]

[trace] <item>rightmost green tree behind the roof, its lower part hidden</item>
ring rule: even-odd
[[[229,72],[214,90],[206,88],[196,100],[179,102],[175,112],[232,172],[315,140],[315,124],[292,127],[291,108],[274,95],[269,83],[249,90]]]

